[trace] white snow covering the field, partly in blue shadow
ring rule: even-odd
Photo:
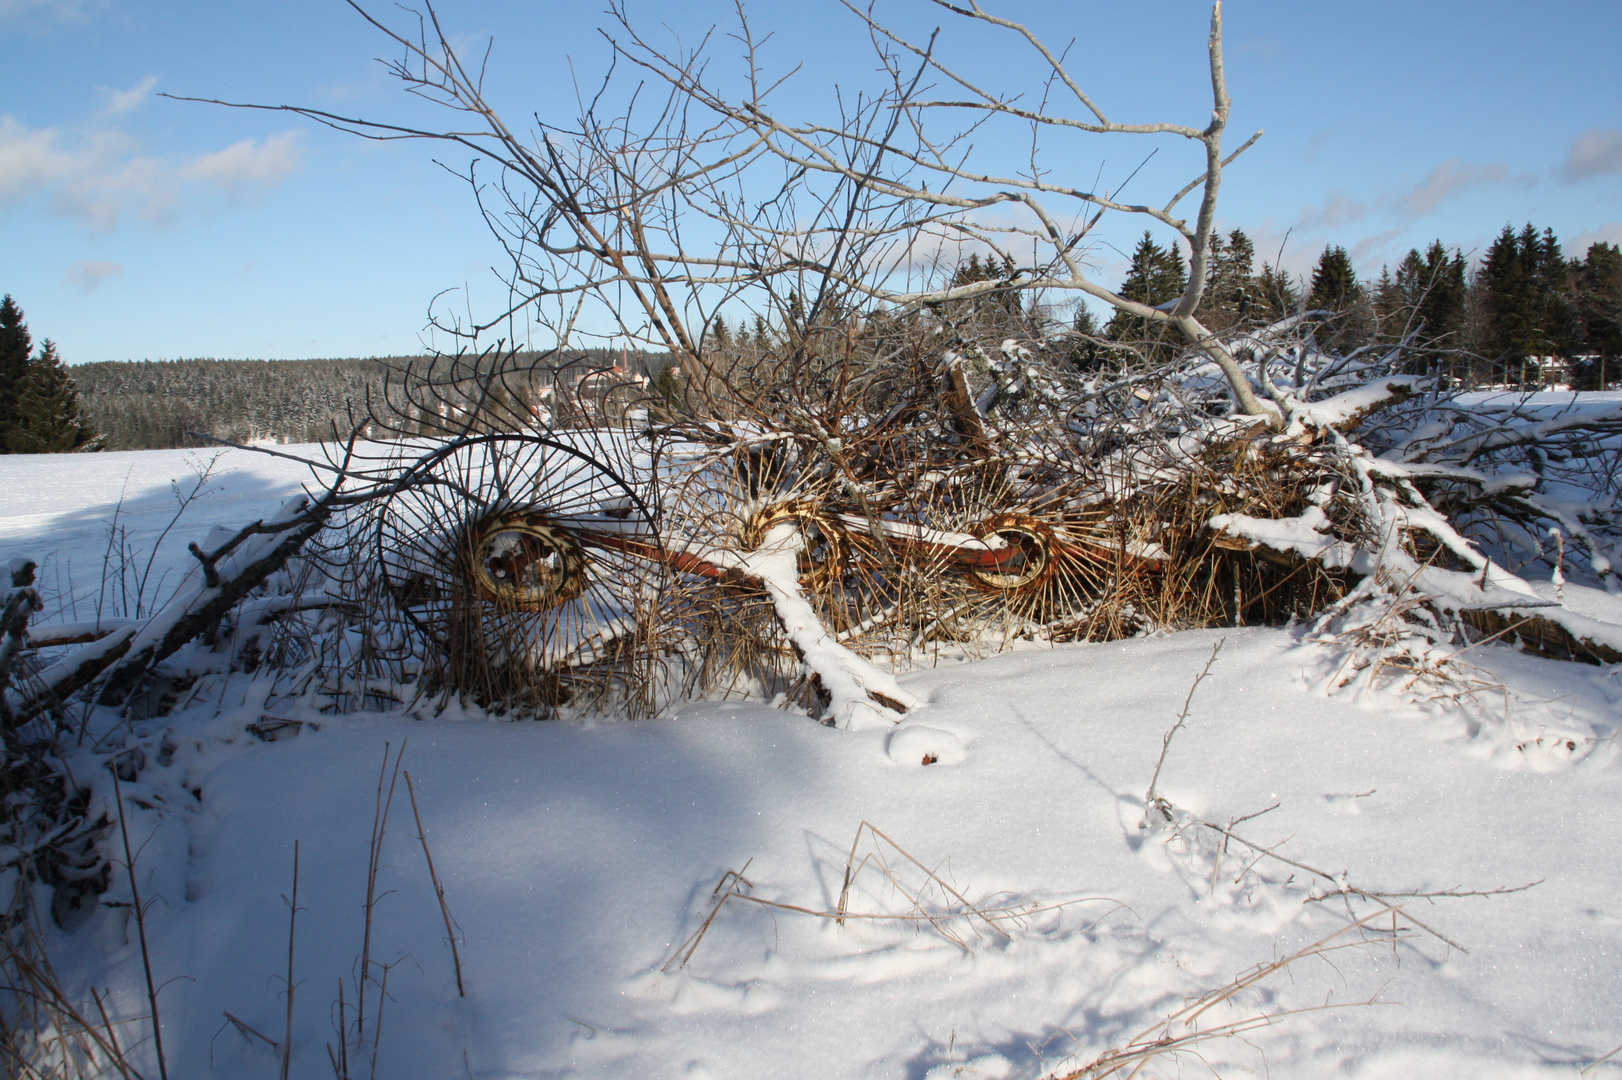
[[[94,615],[115,509],[144,563],[175,511],[170,480],[191,488],[188,457],[0,457],[0,558],[42,561],[62,608],[44,619]],[[307,477],[227,452],[152,577]],[[1622,623],[1614,597],[1565,597]],[[1160,775],[1174,821],[1144,829],[1161,739],[1220,639]],[[1398,897],[1395,916],[1333,942],[1350,947],[1197,1026],[1311,1012],[1140,1075],[1622,1077],[1622,1054],[1594,1065],[1622,1043],[1622,670],[1489,644],[1452,688],[1330,694],[1343,660],[1285,629],[1202,631],[913,673],[902,683],[928,705],[892,731],[696,704],[639,723],[277,712],[320,730],[276,743],[247,731],[263,681],[216,676],[143,722],[146,767],[123,785],[169,1075],[279,1075],[266,1041],[289,1014],[295,842],[290,1075],[333,1075],[380,769],[404,748],[370,929],[388,999],[381,1026],[375,994],[367,1005],[376,1059],[352,1051],[352,1077],[1062,1075],[1382,910],[1338,890],[1531,882]],[[110,777],[81,780],[112,806]],[[853,840],[845,910],[908,918],[822,918]],[[806,911],[733,898],[680,952],[728,869],[738,892]],[[52,955],[68,984],[109,988],[138,1017],[128,898],[120,876],[54,931]]]

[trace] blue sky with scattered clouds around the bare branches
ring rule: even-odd
[[[696,42],[732,5],[626,0],[654,34]],[[1194,0],[986,3],[1069,42],[1111,118],[1204,125],[1208,6]],[[378,15],[396,21],[393,5]],[[444,0],[454,41],[493,39],[488,97],[517,122],[568,120],[573,79],[607,65],[600,0]],[[756,0],[783,112],[816,112],[869,78],[866,39],[834,0]],[[923,0],[879,0],[928,32]],[[1267,135],[1228,172],[1220,219],[1293,271],[1327,242],[1364,276],[1432,238],[1479,253],[1504,224],[1554,229],[1568,253],[1622,242],[1622,3],[1229,0],[1229,144]],[[501,251],[446,148],[375,144],[285,114],[161,92],[423,118],[375,57],[384,42],[342,0],[0,0],[0,292],[70,362],[417,352],[425,311],[500,302]],[[1007,89],[1032,65],[1012,41],[947,24],[944,54]],[[725,41],[717,50],[725,66]],[[1056,141],[1079,183],[1131,174],[1134,141]],[[1194,175],[1161,144],[1129,196]],[[1113,230],[1111,230],[1113,229]],[[1100,232],[1114,284],[1142,225]],[[1286,242],[1288,237],[1288,242]]]

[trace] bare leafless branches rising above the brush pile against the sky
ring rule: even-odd
[[[670,350],[686,375],[725,384],[728,373],[709,357],[725,313],[764,315],[798,360],[819,337],[874,311],[939,310],[991,292],[1058,292],[1176,329],[1221,368],[1239,412],[1277,423],[1280,407],[1257,396],[1195,315],[1223,170],[1260,136],[1223,152],[1229,97],[1221,5],[1208,37],[1210,120],[1191,126],[1111,120],[1062,54],[1027,26],[978,3],[931,2],[946,18],[1020,41],[1040,73],[1035,88],[1017,94],[981,86],[938,55],[936,36],[908,41],[871,8],[842,0],[886,81],[843,97],[830,123],[796,122],[775,107],[783,79],[764,70],[761,41],[741,6],[732,32],[743,52],[741,92],[730,94],[710,78],[707,39],[693,50],[660,49],[615,3],[616,26],[607,32],[615,66],[631,66],[644,81],[624,92],[611,68],[597,92],[577,102],[576,117],[537,117],[526,135],[485,97],[483,70],[464,65],[431,3],[407,32],[349,0],[399,49],[386,63],[406,89],[466,125],[433,130],[298,105],[271,109],[365,138],[448,141],[472,152],[466,177],[506,250],[509,298],[488,319],[441,323],[453,334],[506,326],[511,339],[513,319],[524,313],[561,347],[592,336],[642,342]],[[654,101],[644,92],[649,76],[665,91]],[[1071,136],[1171,136],[1199,144],[1200,165],[1163,203],[1127,203],[1049,177],[1036,149],[1027,170],[981,167],[972,136],[1009,123],[1028,126],[1033,148]],[[1179,216],[1195,193],[1194,214]],[[1004,214],[993,219],[994,209]],[[1129,300],[1088,274],[1088,237],[1108,212],[1152,219],[1189,245],[1189,284],[1174,303]],[[1007,272],[959,284],[929,272],[931,253],[962,245],[989,251]]]

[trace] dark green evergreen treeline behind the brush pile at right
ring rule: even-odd
[[[1144,234],[1121,295],[1148,305],[1179,297],[1187,266],[1174,246]],[[1311,279],[1264,263],[1244,230],[1213,238],[1199,316],[1213,331],[1317,313],[1314,334],[1330,352],[1406,347],[1411,370],[1468,386],[1549,384],[1599,389],[1622,381],[1622,250],[1593,243],[1567,258],[1549,229],[1510,225],[1471,268],[1440,240],[1414,248],[1377,277],[1359,277],[1346,248],[1324,248]],[[1101,329],[1075,318],[1083,366],[1122,355],[1161,358],[1171,331],[1116,311]]]

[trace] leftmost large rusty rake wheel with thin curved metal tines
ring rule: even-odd
[[[428,449],[373,532],[386,592],[427,642],[431,683],[553,714],[646,694],[662,574],[646,503],[589,446],[488,435]]]

